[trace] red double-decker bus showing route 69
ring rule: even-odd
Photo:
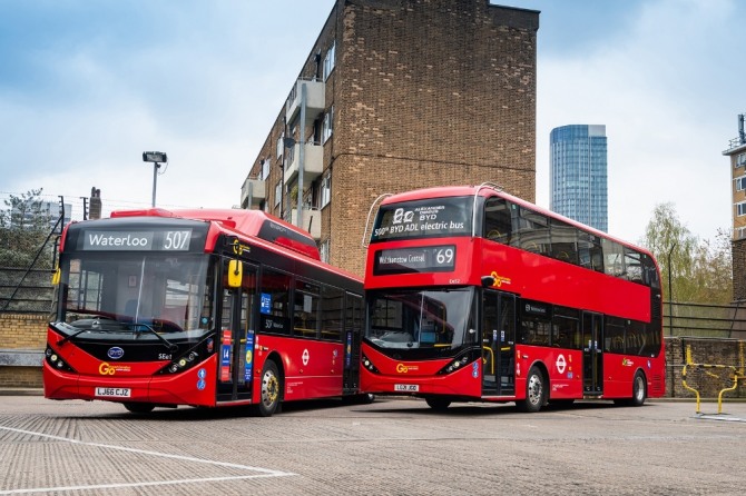
[[[527,411],[580,398],[642,405],[665,393],[651,254],[493,185],[381,201],[365,300],[367,393]]]

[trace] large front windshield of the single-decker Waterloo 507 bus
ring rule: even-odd
[[[203,315],[203,304],[209,301],[208,262],[204,254],[63,256],[59,320],[80,330],[155,330],[197,337],[210,320],[209,308]]]

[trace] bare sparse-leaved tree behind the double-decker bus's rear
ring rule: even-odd
[[[700,241],[678,219],[673,204],[657,205],[642,241],[658,260],[664,297],[675,301],[725,305],[733,299],[730,240],[718,231]],[[670,286],[668,281],[670,279]]]

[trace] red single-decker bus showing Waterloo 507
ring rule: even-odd
[[[45,396],[156,406],[359,395],[362,280],[258,210],[148,209],[69,225]],[[357,399],[356,398],[356,399]]]

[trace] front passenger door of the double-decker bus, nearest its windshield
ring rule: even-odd
[[[516,394],[516,296],[485,289],[482,297],[482,395]]]

